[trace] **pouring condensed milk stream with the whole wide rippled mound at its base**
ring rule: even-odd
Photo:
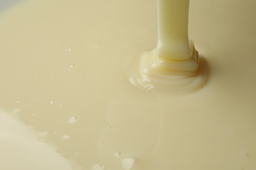
[[[158,44],[136,56],[130,82],[152,92],[194,92],[207,79],[207,67],[188,40],[189,0],[158,0]],[[200,64],[200,67],[199,67]],[[139,71],[137,68],[139,67]]]

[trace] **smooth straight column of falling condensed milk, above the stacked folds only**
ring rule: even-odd
[[[158,0],[158,52],[163,59],[189,59],[188,0]]]

